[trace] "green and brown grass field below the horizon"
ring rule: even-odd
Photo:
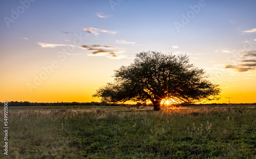
[[[256,158],[253,105],[152,109],[8,107],[0,158]]]

